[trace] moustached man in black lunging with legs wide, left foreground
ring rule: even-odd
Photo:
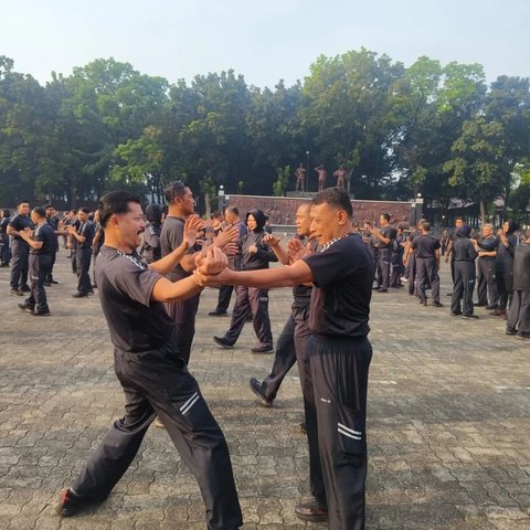
[[[190,223],[183,230],[182,245],[148,266],[136,251],[145,230],[139,199],[127,192],[107,193],[99,213],[105,245],[97,259],[97,287],[115,346],[115,371],[126,395],[126,412],[74,485],[63,490],[56,511],[72,516],[104,500],[132,462],[158,413],[199,481],[208,528],[235,530],[242,516],[226,442],[180,357],[176,326],[162,304],[202,289],[193,276],[176,283],[162,276],[193,243],[187,234]],[[202,266],[214,273],[225,265],[225,256],[212,248]]]

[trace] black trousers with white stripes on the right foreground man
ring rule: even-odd
[[[328,508],[329,528],[333,530],[364,529],[371,358],[372,347],[365,337],[311,336],[307,341],[307,384],[312,393],[307,392],[305,398],[315,417],[306,413],[306,427],[310,447],[318,447],[326,491],[325,499],[315,497],[322,508]],[[316,465],[310,458],[311,478]]]

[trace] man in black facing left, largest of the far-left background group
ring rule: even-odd
[[[46,222],[46,211],[36,206],[31,212],[31,221],[36,225],[33,234],[30,227],[19,232],[30,246],[29,271],[31,278],[30,297],[19,307],[35,317],[50,316],[44,283],[50,272],[52,255],[55,252],[56,235]]]

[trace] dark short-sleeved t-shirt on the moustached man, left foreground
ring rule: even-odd
[[[110,339],[124,351],[156,350],[163,346],[174,324],[160,301],[151,301],[161,278],[138,253],[124,254],[103,245],[96,262],[96,282]]]

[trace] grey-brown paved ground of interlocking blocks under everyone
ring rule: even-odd
[[[65,251],[57,264],[53,316],[41,319],[17,309],[0,269],[0,529],[203,529],[197,484],[155,427],[103,506],[55,516],[57,491],[123,405],[98,299],[73,299]],[[250,327],[236,349],[213,347],[229,324],[206,316],[215,297],[203,294],[191,370],[229,441],[244,528],[325,529],[293,512],[308,494],[296,372],[275,406],[261,407],[248,379],[266,374],[272,356],[250,352]],[[276,336],[289,305],[288,289],[272,294]],[[374,296],[368,529],[530,529],[530,344],[478,314],[451,317],[402,290]]]

